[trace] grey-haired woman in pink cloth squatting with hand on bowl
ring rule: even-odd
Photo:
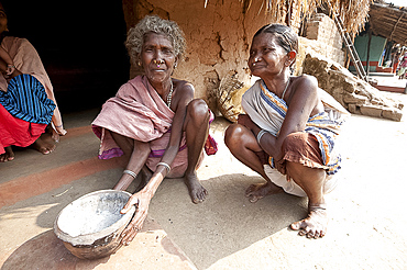
[[[92,128],[101,139],[100,159],[124,155],[127,160],[116,190],[125,190],[141,175],[139,191],[122,210],[138,209],[122,233],[122,243],[128,245],[141,229],[150,201],[165,177],[184,177],[194,203],[206,199],[207,190],[196,170],[202,149],[213,154],[216,143],[208,136],[212,113],[205,101],[194,99],[190,82],[172,78],[185,50],[178,25],[146,16],[129,31],[125,46],[143,75],[124,83],[103,104]]]

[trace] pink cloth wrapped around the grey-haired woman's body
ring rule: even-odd
[[[144,76],[123,85],[116,97],[109,99],[92,123],[95,134],[101,139],[99,158],[109,159],[123,155],[111,137],[110,131],[141,142],[150,142],[146,166],[155,171],[169,142],[174,112],[165,104]],[[183,177],[188,154],[185,134],[175,157],[169,177]],[[201,155],[201,159],[204,153]]]

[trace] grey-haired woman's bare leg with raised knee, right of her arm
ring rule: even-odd
[[[184,131],[188,147],[188,167],[185,171],[185,183],[194,203],[202,202],[208,191],[197,177],[197,165],[209,133],[210,112],[204,100],[193,100],[187,108]]]

